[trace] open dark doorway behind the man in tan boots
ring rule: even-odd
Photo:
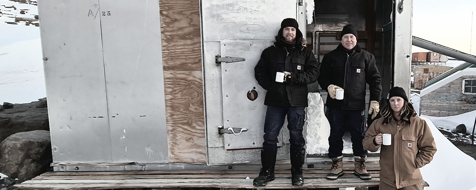
[[[307,25],[307,47],[312,49],[318,62],[340,44],[340,31],[347,24],[357,28],[357,44],[375,56],[382,77],[382,96],[392,87],[394,77],[394,14],[393,0],[315,0],[314,19]],[[309,92],[319,92],[326,103],[327,92],[317,82],[308,86]],[[367,85],[366,113],[369,91]],[[382,107],[385,101],[381,101]],[[326,107],[325,107],[326,109]],[[369,117],[368,117],[369,118]],[[368,120],[368,125],[373,122]],[[352,153],[350,134],[344,135],[344,154]],[[325,153],[309,157],[326,157]],[[370,154],[369,156],[378,156]]]

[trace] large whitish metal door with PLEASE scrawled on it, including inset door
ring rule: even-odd
[[[260,161],[266,91],[254,78],[254,66],[274,42],[281,21],[297,18],[297,6],[289,0],[201,2],[208,164]],[[245,61],[217,63],[217,55]],[[250,90],[258,93],[254,101],[247,98]],[[289,159],[286,126],[278,138],[278,160]]]

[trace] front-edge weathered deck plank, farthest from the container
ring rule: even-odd
[[[119,188],[247,188],[255,189],[253,180],[246,179],[154,179],[154,180],[30,180],[15,187],[25,190],[79,190],[79,189],[119,189]],[[306,179],[304,186],[292,186],[289,179],[276,179],[260,189],[306,189],[337,187],[376,187],[378,179]]]

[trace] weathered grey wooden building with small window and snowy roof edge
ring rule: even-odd
[[[476,65],[464,63],[429,80],[420,91],[420,113],[458,115],[476,110]]]

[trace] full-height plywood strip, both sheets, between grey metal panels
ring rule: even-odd
[[[170,163],[206,163],[199,0],[159,0]]]

